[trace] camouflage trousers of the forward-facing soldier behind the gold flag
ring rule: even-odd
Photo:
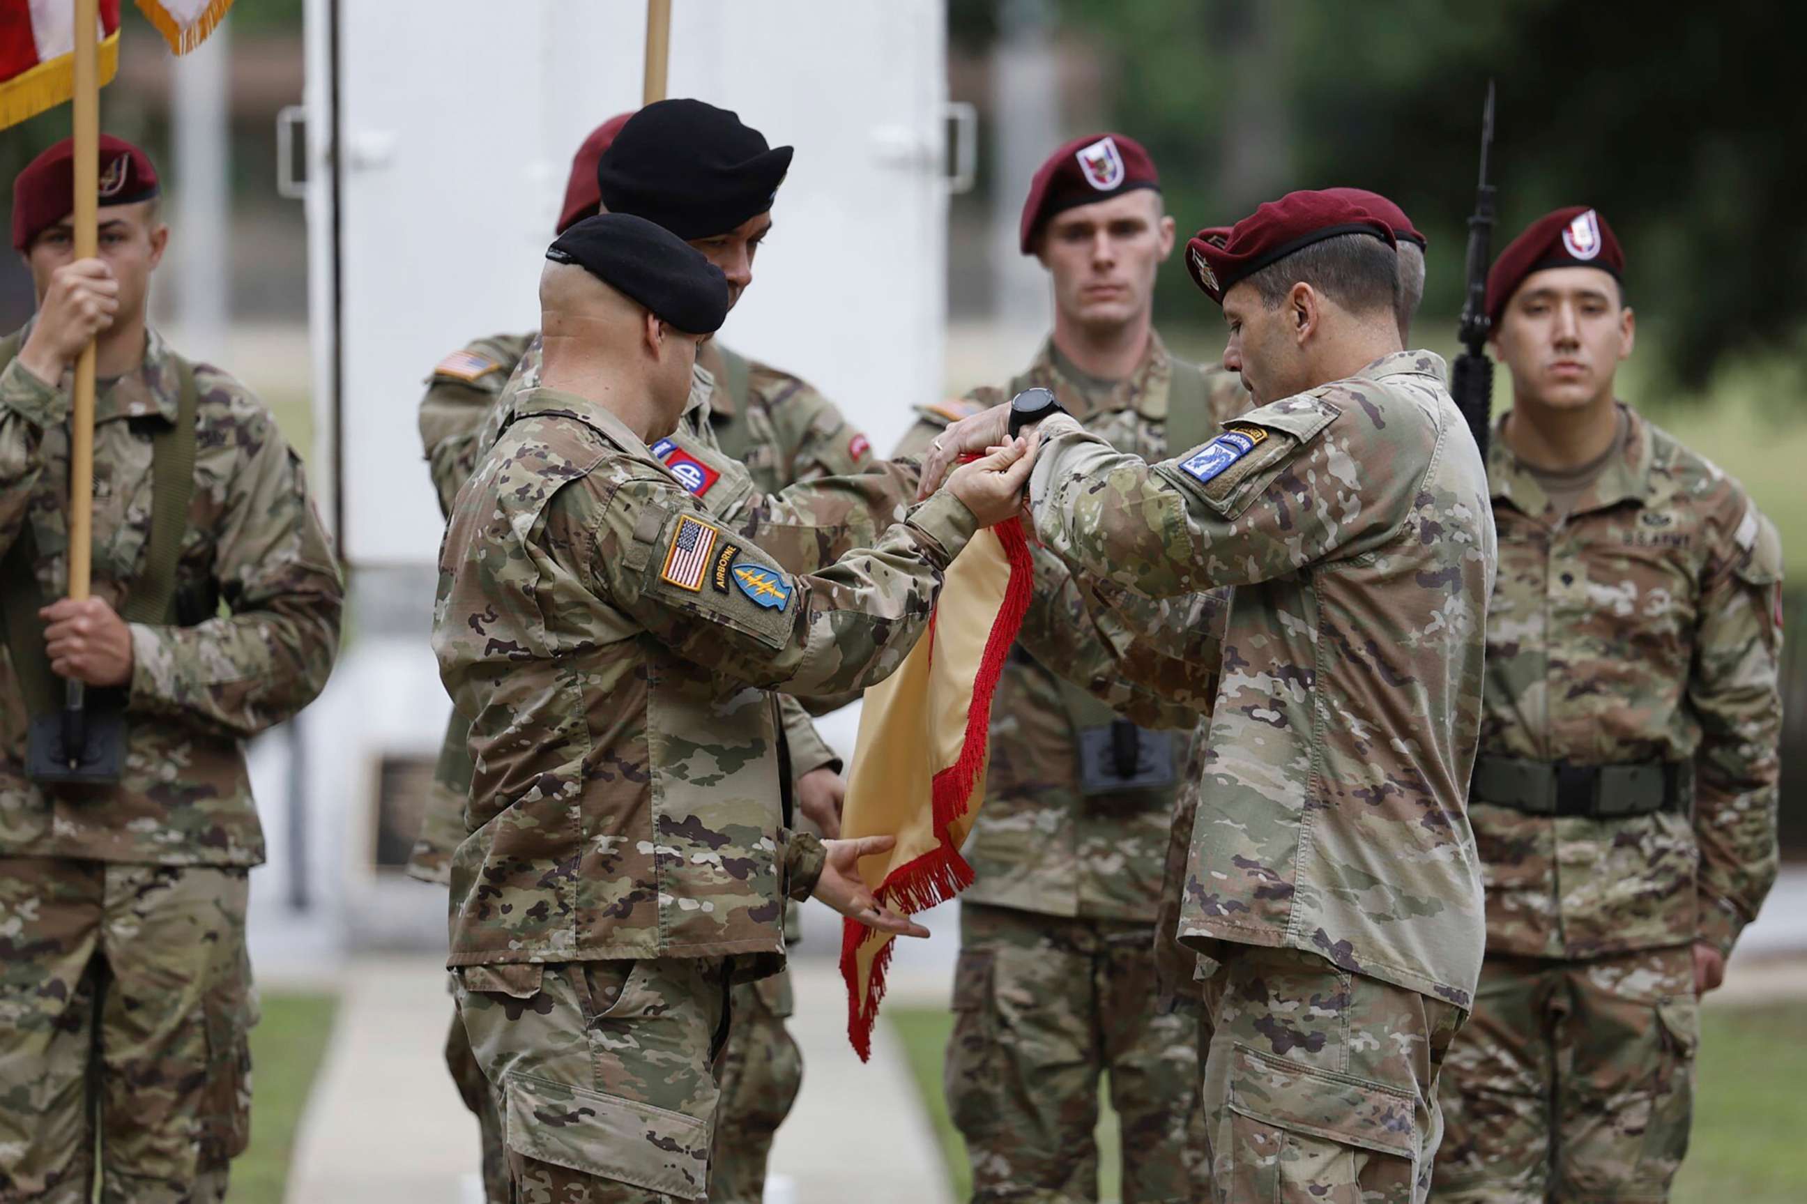
[[[972,1199],[1099,1199],[1104,1070],[1124,1204],[1205,1199],[1196,1016],[1160,1012],[1149,924],[965,904],[945,1094]]]

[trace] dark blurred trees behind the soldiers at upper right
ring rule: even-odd
[[[1373,188],[1431,239],[1426,315],[1456,313],[1493,78],[1494,251],[1550,208],[1597,206],[1661,331],[1639,358],[1659,362],[1664,392],[1803,349],[1807,295],[1780,284],[1807,278],[1807,90],[1791,61],[1807,7],[950,0],[954,45],[978,52],[1026,9],[1100,56],[1106,118],[1160,163],[1182,237],[1290,188]],[[1189,306],[1189,287],[1166,273],[1164,309]]]

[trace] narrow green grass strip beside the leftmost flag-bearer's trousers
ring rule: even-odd
[[[251,1148],[231,1164],[231,1204],[282,1204],[295,1128],[336,1007],[331,994],[264,994],[264,1020],[251,1029]]]

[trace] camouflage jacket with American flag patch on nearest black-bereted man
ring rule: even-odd
[[[790,577],[605,409],[546,389],[515,409],[441,550],[434,651],[477,767],[450,964],[761,955],[744,973],[772,973],[781,898],[813,886],[820,846],[781,826],[768,687],[896,669],[972,513],[938,494]]]

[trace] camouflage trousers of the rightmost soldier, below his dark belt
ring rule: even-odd
[[[1688,945],[1493,956],[1449,1052],[1437,1200],[1666,1200],[1700,1014]]]

